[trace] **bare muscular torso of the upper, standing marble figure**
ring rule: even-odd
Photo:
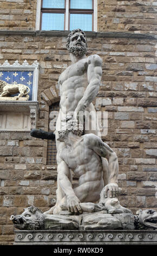
[[[87,58],[78,60],[77,63],[69,66],[61,74],[58,83],[60,84],[60,108],[64,114],[74,111],[78,101],[81,100],[88,86],[87,79]]]

